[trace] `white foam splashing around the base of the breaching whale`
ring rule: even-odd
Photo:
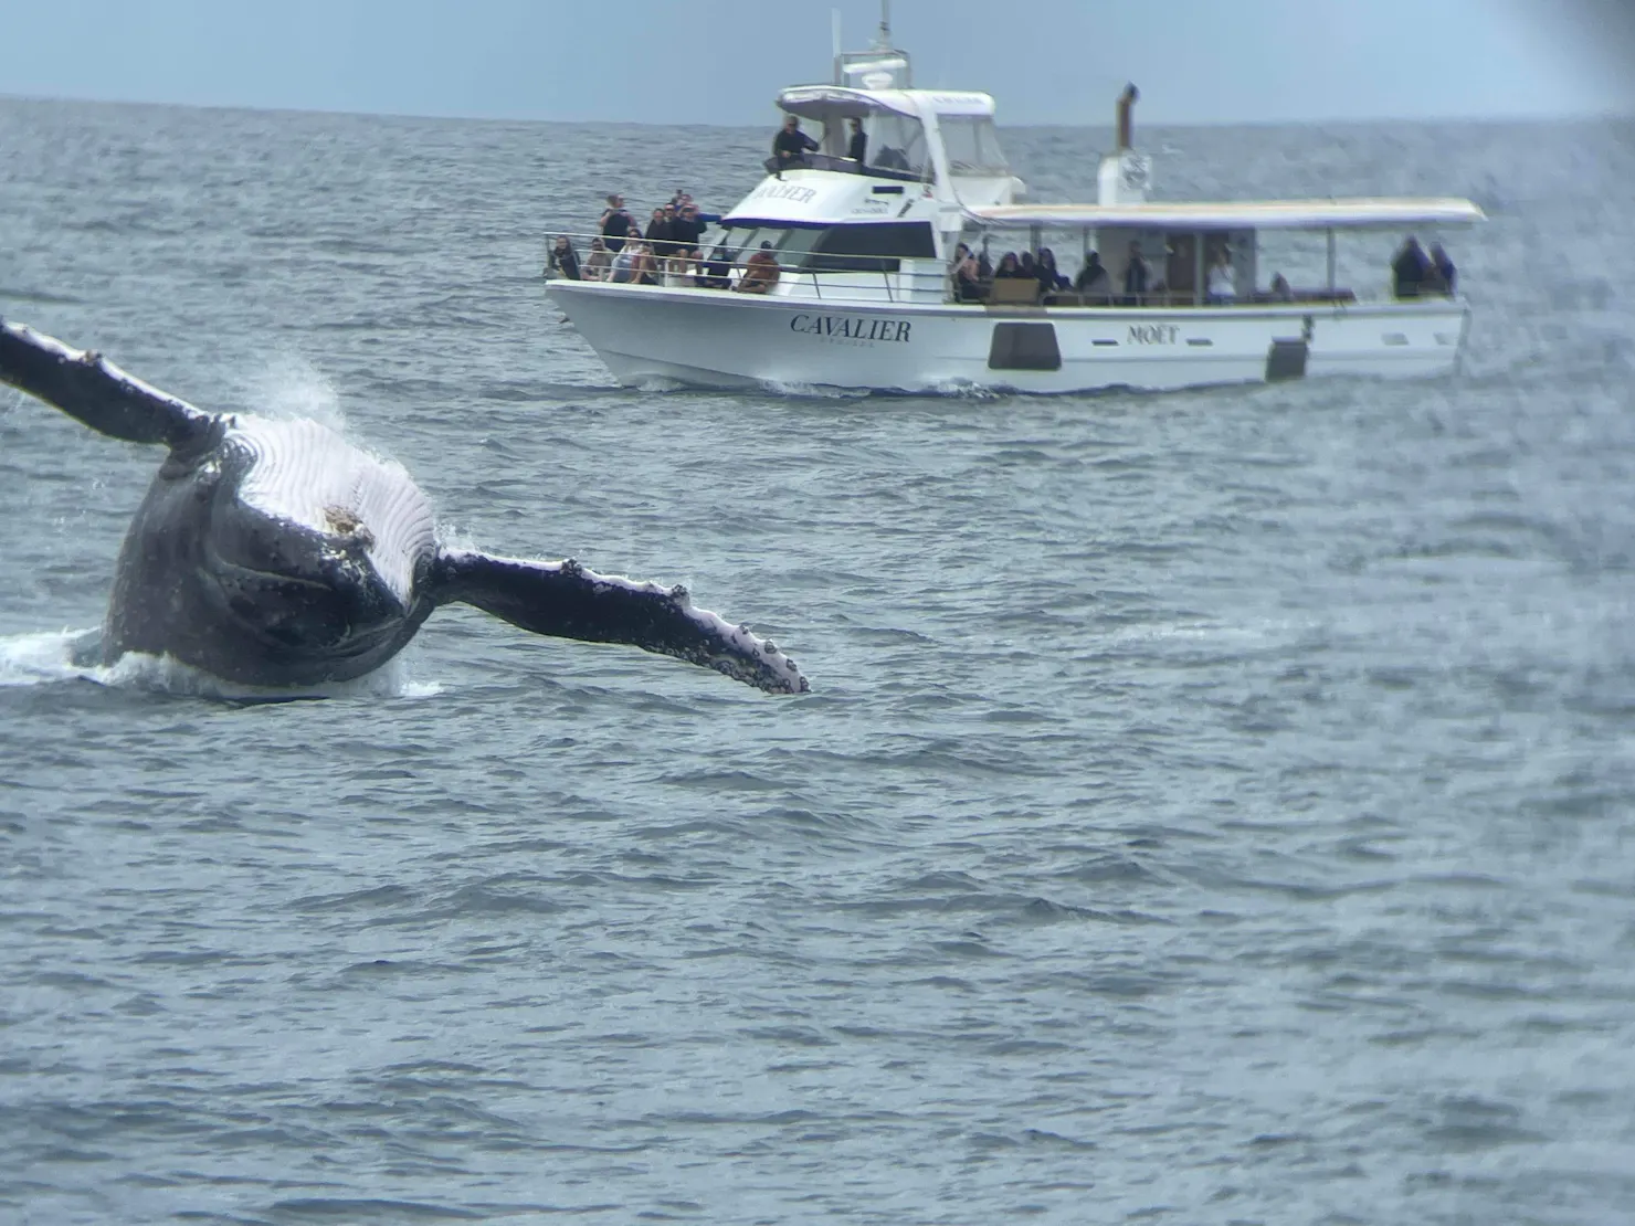
[[[168,656],[131,652],[101,664],[98,629],[0,634],[0,690],[92,682],[110,690],[208,698],[224,703],[283,703],[301,698],[430,698],[443,691],[437,682],[415,682],[402,657],[350,682],[283,688],[237,685],[211,677]]]

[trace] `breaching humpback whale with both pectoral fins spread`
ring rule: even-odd
[[[683,587],[441,548],[402,466],[319,422],[211,414],[21,324],[0,320],[0,381],[113,438],[164,445],[131,520],[101,631],[111,664],[168,656],[226,682],[361,677],[438,605],[674,656],[768,693],[806,678],[778,647],[695,608]]]

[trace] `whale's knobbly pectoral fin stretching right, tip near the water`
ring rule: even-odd
[[[463,602],[535,634],[584,642],[628,642],[724,672],[770,693],[804,693],[806,678],[772,642],[714,613],[693,608],[683,587],[598,575],[572,559],[528,562],[446,549],[428,593]]]

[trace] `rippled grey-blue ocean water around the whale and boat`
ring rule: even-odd
[[[1635,1219],[1635,124],[1143,134],[1476,198],[1447,379],[616,387],[546,235],[768,134],[0,100],[0,314],[813,682],[77,669],[159,456],[0,391],[0,1219]]]

